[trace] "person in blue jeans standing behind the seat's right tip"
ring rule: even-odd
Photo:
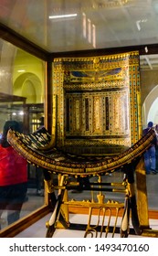
[[[153,128],[153,122],[149,122],[147,128],[143,130],[143,135],[149,132]],[[145,151],[144,153],[144,165],[146,174],[156,175],[156,154],[155,154],[155,143]]]

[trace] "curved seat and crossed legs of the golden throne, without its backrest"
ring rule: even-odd
[[[52,211],[47,221],[46,237],[52,237],[57,228],[71,229],[69,222],[69,206],[89,209],[89,220],[85,228],[84,237],[114,237],[120,232],[121,238],[129,233],[158,237],[158,230],[149,225],[148,204],[146,192],[146,175],[143,164],[143,153],[153,143],[154,130],[142,136],[128,150],[113,157],[96,157],[70,155],[51,145],[51,134],[45,127],[35,133],[24,134],[9,130],[8,142],[15,150],[23,155],[28,163],[43,167],[49,206]],[[102,177],[121,171],[121,183],[113,180],[111,183],[102,182]],[[54,183],[52,175],[58,175],[58,184]],[[72,181],[71,177],[97,176],[98,182],[81,185]],[[135,180],[136,179],[136,180]],[[90,201],[68,200],[68,190],[79,189],[98,191],[98,201],[93,197]],[[103,192],[105,194],[103,194]],[[105,202],[106,192],[124,193],[124,202],[109,200]],[[97,223],[91,223],[93,212],[97,214]],[[121,223],[118,227],[118,217]],[[112,224],[111,219],[114,218]],[[132,219],[132,229],[130,228]],[[78,225],[79,228],[79,225]]]

